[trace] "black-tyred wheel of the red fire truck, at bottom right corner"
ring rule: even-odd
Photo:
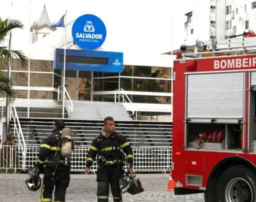
[[[245,166],[232,166],[220,176],[216,187],[220,202],[253,202],[256,195],[256,174]]]

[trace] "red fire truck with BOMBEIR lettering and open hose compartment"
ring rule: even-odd
[[[256,201],[256,38],[199,42],[174,60],[175,195]]]

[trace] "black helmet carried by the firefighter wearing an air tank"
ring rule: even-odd
[[[31,191],[38,191],[41,187],[41,178],[40,178],[39,168],[33,167],[28,170],[28,178],[26,179],[26,184],[28,189]]]

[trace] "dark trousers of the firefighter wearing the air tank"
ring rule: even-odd
[[[70,170],[57,169],[53,178],[55,169],[46,168],[41,191],[41,201],[52,201],[53,189],[55,187],[55,202],[65,202],[67,187],[69,187]]]

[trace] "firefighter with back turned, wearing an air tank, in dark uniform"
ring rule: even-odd
[[[65,202],[70,180],[70,160],[67,164],[61,156],[61,131],[65,128],[62,120],[55,121],[53,133],[42,140],[37,163],[34,165],[44,172],[41,201],[52,201],[55,186],[55,201]],[[73,140],[72,140],[73,150]],[[47,160],[47,161],[46,161]],[[46,162],[45,162],[46,161]],[[45,170],[44,170],[45,164]]]

